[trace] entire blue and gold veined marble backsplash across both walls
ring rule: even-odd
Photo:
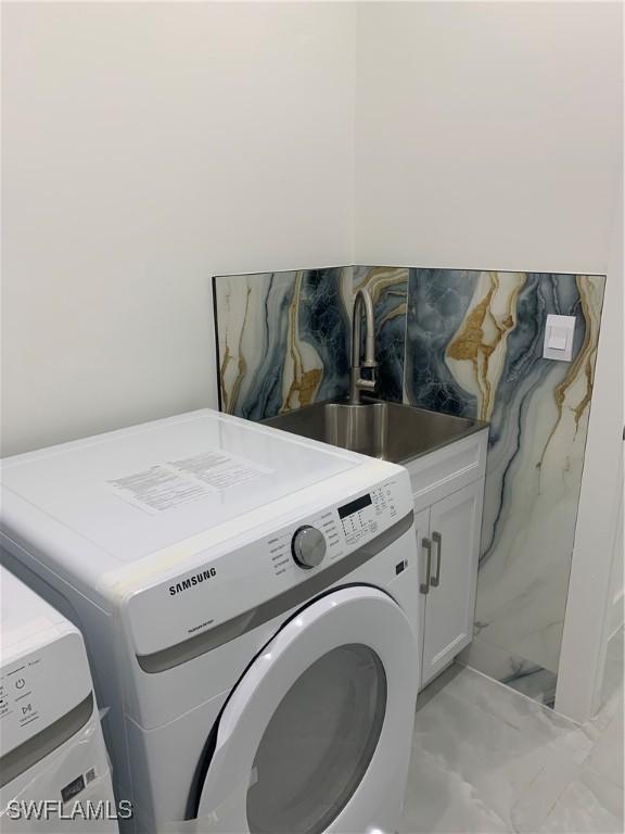
[[[475,640],[463,660],[552,703],[592,392],[600,276],[347,266],[214,279],[222,410],[343,396],[350,311],[374,301],[379,395],[490,422]],[[544,359],[548,313],[573,361]]]

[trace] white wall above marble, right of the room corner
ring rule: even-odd
[[[604,273],[621,11],[360,5],[356,261]]]

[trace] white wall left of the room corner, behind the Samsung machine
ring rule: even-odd
[[[2,14],[3,454],[216,404],[211,275],[352,260],[354,9]]]

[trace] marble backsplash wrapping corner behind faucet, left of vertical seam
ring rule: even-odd
[[[346,396],[362,286],[374,305],[377,393],[401,400],[408,270],[339,266],[214,278],[221,409],[260,420]]]

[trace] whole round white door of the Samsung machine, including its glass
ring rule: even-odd
[[[418,662],[408,618],[379,589],[311,602],[230,693],[193,816],[252,834],[363,830],[406,778]]]

